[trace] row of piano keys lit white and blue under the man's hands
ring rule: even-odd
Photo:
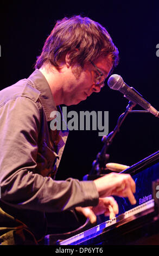
[[[85,242],[86,240],[91,239],[92,237],[100,235],[101,233],[103,233],[103,231],[109,230],[113,224],[119,223],[120,221],[126,220],[129,217],[140,214],[145,210],[154,208],[154,205],[155,205],[154,199],[149,200],[146,203],[143,203],[129,211],[126,211],[122,215],[112,218],[112,220],[103,222],[103,223],[97,225],[96,227],[88,229],[78,235],[75,235],[66,240],[60,241],[59,245],[78,245],[81,242]]]

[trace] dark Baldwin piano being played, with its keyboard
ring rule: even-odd
[[[100,216],[95,227],[58,239],[56,245],[159,245],[159,151],[122,173],[129,173],[136,182],[137,204],[115,197],[119,205],[115,218]],[[45,244],[55,244],[54,239],[47,235]]]

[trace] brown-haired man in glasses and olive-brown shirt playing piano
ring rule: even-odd
[[[98,214],[112,218],[118,213],[113,195],[136,203],[130,175],[54,180],[68,132],[50,129],[51,113],[100,92],[117,63],[118,50],[105,28],[87,17],[65,18],[48,36],[33,74],[1,91],[2,245],[38,244],[49,230],[79,227],[82,216],[92,223]]]

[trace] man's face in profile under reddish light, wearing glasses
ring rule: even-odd
[[[101,83],[96,84],[96,78],[100,77],[101,72]],[[72,74],[70,77],[70,83],[66,90],[66,105],[77,105],[80,101],[86,100],[93,92],[99,93],[102,82],[106,79],[112,69],[111,57],[99,57],[96,61],[84,65],[81,69],[80,74],[77,74],[77,70],[72,67]]]

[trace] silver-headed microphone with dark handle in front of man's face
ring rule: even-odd
[[[159,117],[159,112],[154,107],[152,107],[151,104],[137,92],[137,90],[135,90],[133,87],[129,87],[128,84],[124,83],[121,76],[116,74],[110,76],[107,84],[111,89],[119,90],[119,92],[123,93],[126,99],[143,107],[151,114],[155,115],[155,117]]]

